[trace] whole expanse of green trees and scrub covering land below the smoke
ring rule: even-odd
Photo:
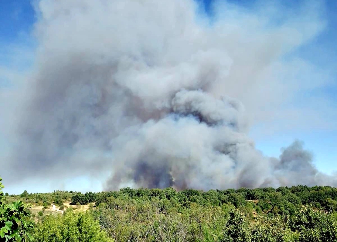
[[[56,216],[40,211],[35,241],[337,242],[337,189],[332,187],[24,191],[4,197],[7,204],[20,198],[43,206],[75,205]],[[86,212],[73,210],[88,203]]]

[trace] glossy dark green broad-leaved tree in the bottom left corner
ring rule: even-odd
[[[24,204],[22,201],[4,204],[2,192],[4,185],[1,181],[0,177],[0,240],[6,242],[32,240],[30,231],[33,229],[33,222],[30,220],[31,214],[28,210],[30,204]]]

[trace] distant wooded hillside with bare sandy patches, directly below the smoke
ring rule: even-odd
[[[337,211],[337,188],[330,186],[293,186],[257,189],[227,189],[210,190],[207,192],[193,189],[176,191],[173,188],[166,189],[130,189],[110,192],[87,192],[85,194],[73,191],[54,191],[52,193],[28,193],[24,191],[20,195],[5,196],[6,202],[23,200],[31,203],[35,208],[52,210],[52,204],[86,210],[88,204],[107,203],[112,199],[127,199],[137,201],[164,201],[166,206],[188,207],[192,203],[202,206],[221,206],[232,204],[238,209],[248,209],[256,213],[274,213],[280,215],[294,214],[297,208],[303,205],[311,206],[318,210],[329,212]]]

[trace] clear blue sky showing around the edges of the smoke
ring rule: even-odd
[[[203,1],[207,12],[212,15],[212,1]],[[252,6],[252,1],[247,0],[232,0],[231,2],[248,8]],[[328,0],[325,3],[326,29],[318,37],[300,49],[297,49],[295,54],[305,58],[315,67],[329,71],[329,78],[331,80],[329,87],[317,88],[311,93],[304,95],[318,95],[321,98],[329,100],[331,106],[337,108],[337,4],[334,0]],[[283,4],[292,5],[294,1],[283,1]],[[296,4],[301,3],[297,2]],[[33,63],[35,43],[31,31],[33,30],[35,21],[35,12],[30,1],[0,1],[0,91],[1,89],[10,90],[13,88],[14,84],[11,82],[13,73],[20,75],[29,69]],[[18,55],[18,53],[21,53],[21,55]],[[301,97],[298,97],[298,100],[292,104],[295,106],[306,106],[303,100]],[[0,103],[0,107],[1,105],[5,105],[5,103]],[[327,113],[327,117],[330,119],[333,119],[335,116],[336,113]],[[279,126],[280,124],[276,122],[273,125]],[[330,122],[328,127],[316,125],[304,129],[289,128],[273,130],[273,132],[265,132],[264,124],[259,124],[255,125],[250,132],[251,137],[256,142],[256,147],[262,150],[264,154],[278,156],[281,147],[289,145],[294,139],[300,139],[305,142],[305,147],[312,150],[315,154],[314,162],[320,171],[331,173],[337,170],[337,128],[333,123],[331,124]],[[6,137],[1,138],[1,136],[5,137],[4,134],[1,135],[0,130],[0,147],[6,147],[8,140]],[[79,184],[85,182],[85,178],[78,180]],[[88,184],[92,184],[92,181],[88,182]],[[48,186],[46,189],[48,190]],[[66,187],[66,189],[70,190],[71,188]],[[22,190],[24,189],[17,187],[9,192],[18,193]]]

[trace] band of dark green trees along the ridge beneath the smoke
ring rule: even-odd
[[[233,204],[236,208],[248,207],[257,213],[294,214],[295,210],[303,205],[310,205],[316,209],[330,212],[337,211],[337,189],[329,186],[307,187],[293,186],[257,189],[227,189],[210,190],[207,192],[197,190],[184,190],[177,192],[173,188],[166,189],[131,189],[124,188],[120,191],[85,194],[76,193],[71,197],[71,204],[88,204],[95,202],[109,203],[111,198],[126,198],[150,201],[157,197],[166,203],[179,204],[188,207],[191,203],[198,205],[219,206]]]

